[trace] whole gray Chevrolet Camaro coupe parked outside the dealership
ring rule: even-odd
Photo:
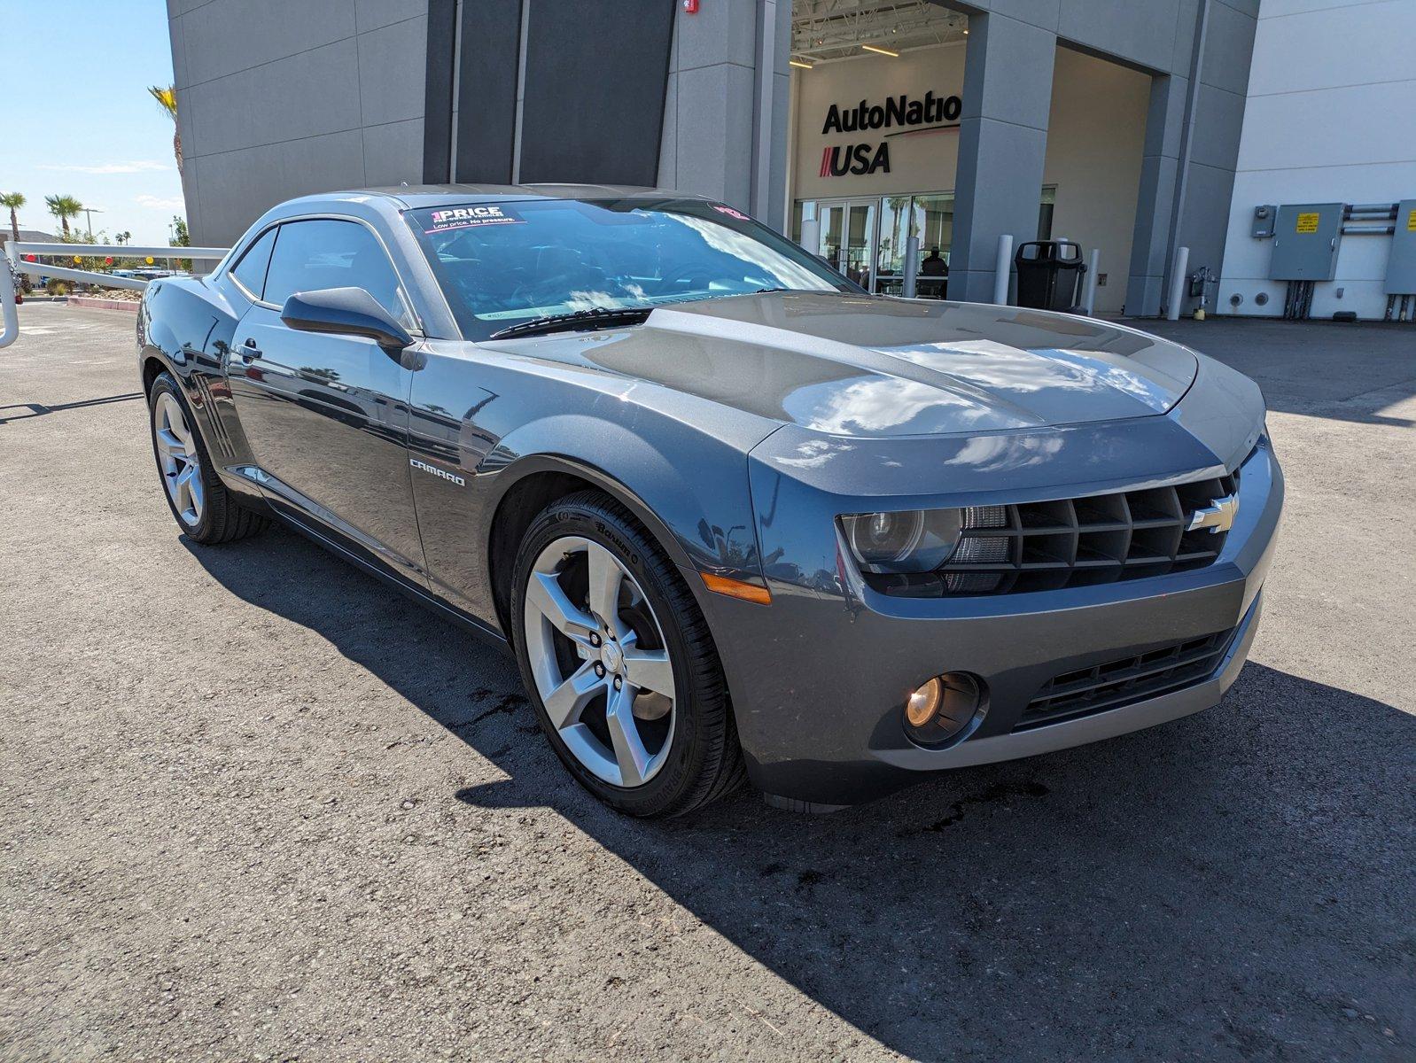
[[[1247,378],[1065,314],[871,296],[606,187],[269,211],[137,324],[173,515],[279,518],[510,645],[600,800],[826,810],[1219,701],[1283,477]]]

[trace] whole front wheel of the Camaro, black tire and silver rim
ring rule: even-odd
[[[722,665],[673,562],[595,491],[545,510],[517,553],[513,638],[571,774],[630,815],[677,815],[743,777]]]

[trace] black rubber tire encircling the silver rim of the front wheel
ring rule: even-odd
[[[653,607],[673,661],[677,715],[668,754],[658,773],[636,787],[613,786],[589,771],[551,725],[537,689],[523,626],[525,589],[537,558],[562,536],[598,542],[623,563]],[[677,566],[613,498],[581,491],[551,504],[531,522],[513,568],[510,626],[521,679],[541,729],[576,781],[605,804],[636,817],[683,815],[745,781],[728,685],[708,623]]]

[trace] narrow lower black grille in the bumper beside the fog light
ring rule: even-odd
[[[1049,679],[1028,702],[1014,730],[1119,709],[1147,698],[1191,686],[1215,674],[1235,628],[1163,645]]]

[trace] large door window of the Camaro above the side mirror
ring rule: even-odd
[[[265,301],[285,306],[296,292],[327,287],[361,287],[396,321],[412,324],[398,294],[398,275],[372,232],[333,218],[285,222],[270,255]]]

